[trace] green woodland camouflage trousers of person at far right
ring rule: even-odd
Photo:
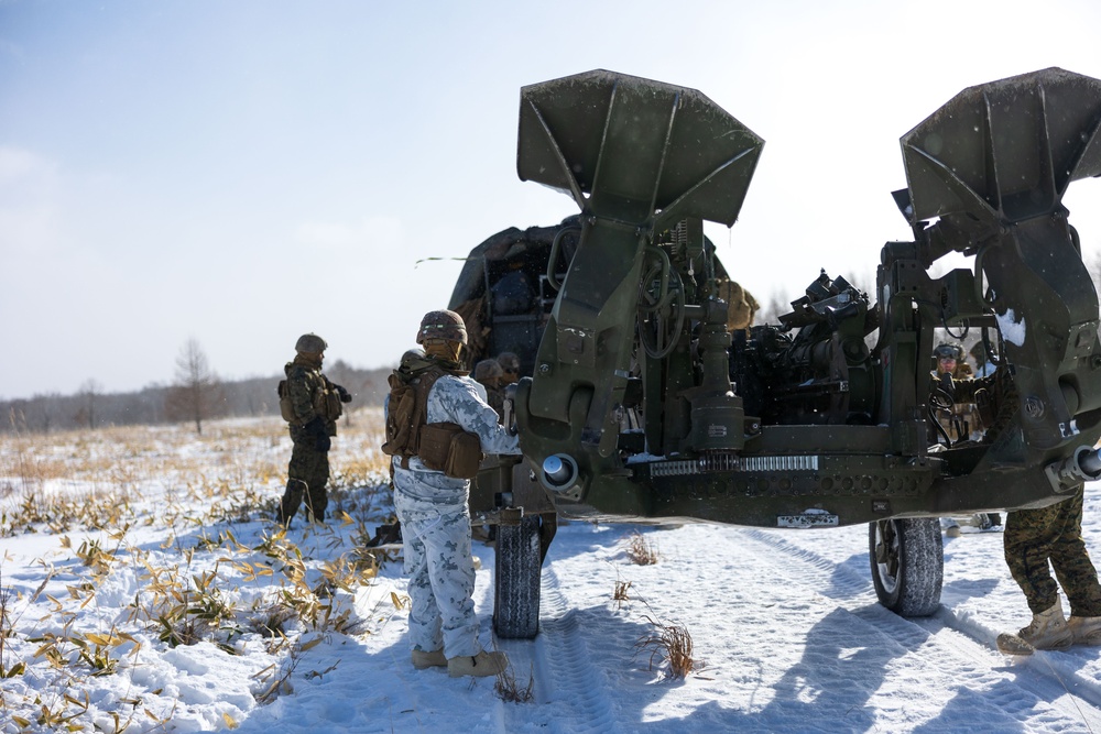
[[[1038,614],[1058,600],[1058,585],[1075,616],[1101,616],[1101,584],[1082,540],[1083,487],[1054,505],[1015,510],[1005,521],[1005,562],[1025,592],[1028,609]]]

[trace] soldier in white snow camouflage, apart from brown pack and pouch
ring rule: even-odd
[[[424,424],[455,424],[477,436],[486,453],[520,453],[519,439],[498,423],[478,384],[460,368],[467,332],[458,314],[443,310],[425,315],[416,341],[433,362],[417,377],[433,380]],[[393,471],[394,508],[402,524],[405,572],[410,576],[414,667],[446,666],[453,677],[503,671],[508,666],[504,653],[483,650],[478,642],[467,507],[470,481],[429,469],[418,454],[405,459],[394,453]]]

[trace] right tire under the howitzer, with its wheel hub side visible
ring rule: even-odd
[[[940,518],[871,523],[868,548],[875,595],[883,606],[901,616],[929,616],[937,611],[945,582]]]

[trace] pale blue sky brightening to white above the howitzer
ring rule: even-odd
[[[898,138],[968,86],[1101,77],[1099,28],[1084,0],[0,0],[0,397],[167,383],[192,337],[229,379],[304,331],[392,364],[459,269],[418,260],[574,213],[516,177],[520,87],[592,68],[765,139],[708,230],[761,299],[866,282],[909,235]],[[1066,199],[1090,252],[1098,183]]]

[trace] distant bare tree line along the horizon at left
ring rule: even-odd
[[[275,387],[282,374],[224,382],[204,368],[205,358],[198,360],[201,352],[188,355],[187,349],[185,346],[176,362],[176,381],[172,385],[154,384],[133,393],[105,393],[99,383],[89,380],[75,395],[52,393],[0,401],[0,432],[181,421],[195,423],[196,430],[201,431],[201,420],[209,418],[279,415]],[[360,370],[341,360],[325,368],[333,382],[355,395],[352,407],[381,407],[390,391],[386,377],[391,371],[392,368]],[[183,379],[185,374],[190,376],[189,381]],[[200,402],[198,408],[196,401]]]

